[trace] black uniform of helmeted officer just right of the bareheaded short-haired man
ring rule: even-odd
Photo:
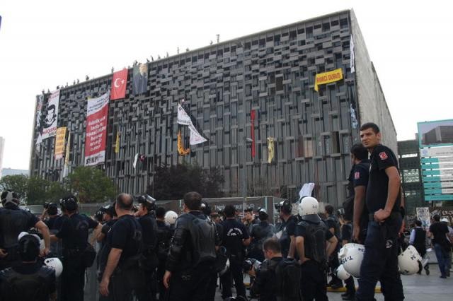
[[[146,290],[137,295],[139,301],[155,300],[156,299],[156,268],[158,266],[157,259],[157,223],[154,216],[148,213],[145,216],[138,218],[143,231],[143,260],[142,269],[144,271]]]

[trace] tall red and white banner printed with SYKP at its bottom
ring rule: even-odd
[[[108,93],[88,100],[86,113],[85,166],[105,161]]]

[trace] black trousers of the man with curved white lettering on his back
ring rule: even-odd
[[[246,297],[246,286],[243,284],[241,258],[229,257],[229,269],[221,277],[222,297],[231,297],[231,276],[234,279],[234,287],[238,296]]]

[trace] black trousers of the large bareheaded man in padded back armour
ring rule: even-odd
[[[168,301],[205,300],[207,286],[212,276],[212,262],[202,263],[190,271],[176,271],[172,274]]]

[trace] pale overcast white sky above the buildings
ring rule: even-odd
[[[398,141],[417,122],[453,117],[449,1],[17,1],[0,4],[3,167],[28,169],[35,95],[174,55],[353,8]]]

